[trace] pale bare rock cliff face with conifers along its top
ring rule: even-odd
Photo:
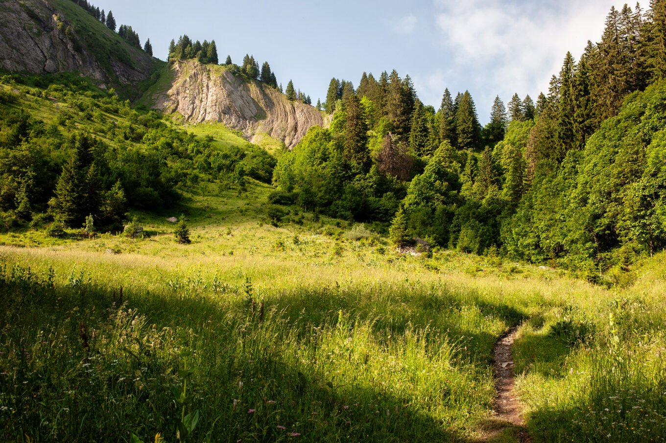
[[[224,67],[180,61],[171,67],[174,81],[166,93],[152,97],[155,107],[180,113],[186,121],[219,121],[242,131],[248,140],[266,133],[294,147],[322,114],[310,105],[289,101],[280,91],[246,81]]]

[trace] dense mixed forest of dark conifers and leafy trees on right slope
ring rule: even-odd
[[[332,79],[313,128],[274,173],[276,201],[391,222],[467,252],[583,269],[666,246],[666,1],[611,8],[598,43],[571,53],[547,93],[500,97],[482,127],[468,91],[424,105],[408,75]],[[663,102],[661,102],[663,103]],[[321,105],[321,104],[320,104]]]

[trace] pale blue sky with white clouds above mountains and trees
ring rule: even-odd
[[[92,0],[150,38],[165,60],[168,43],[187,34],[215,40],[220,62],[246,53],[268,61],[278,83],[290,79],[312,102],[332,77],[410,75],[421,101],[439,108],[444,89],[470,91],[479,119],[499,95],[536,100],[567,51],[577,60],[599,41],[612,0]],[[647,2],[643,2],[647,3]]]

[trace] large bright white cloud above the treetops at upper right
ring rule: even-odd
[[[440,44],[454,57],[451,63],[468,73],[470,91],[474,85],[488,91],[487,97],[475,97],[482,111],[496,94],[507,101],[514,92],[533,99],[545,92],[567,51],[577,60],[587,40],[599,40],[613,0],[435,0],[434,5]]]

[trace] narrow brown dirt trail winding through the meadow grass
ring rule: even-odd
[[[531,439],[525,428],[525,420],[521,414],[521,406],[513,392],[513,358],[511,347],[518,327],[513,326],[500,336],[494,348],[493,372],[495,374],[494,415],[486,422],[483,437],[480,442],[507,441],[507,436],[513,436],[521,443],[529,443]],[[513,439],[511,439],[513,440]]]

